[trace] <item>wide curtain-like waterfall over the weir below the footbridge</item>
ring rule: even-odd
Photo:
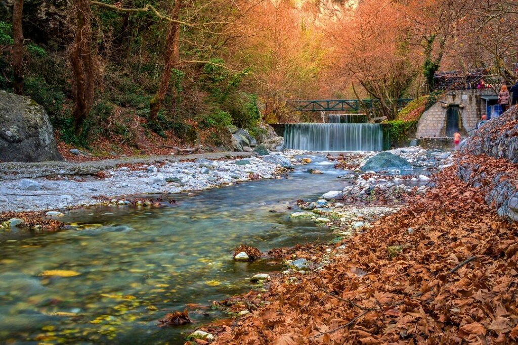
[[[286,148],[308,151],[382,151],[380,124],[286,124]]]

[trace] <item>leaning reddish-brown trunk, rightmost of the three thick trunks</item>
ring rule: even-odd
[[[183,0],[176,0],[172,8],[171,18],[178,20],[180,8]],[[159,89],[155,96],[149,102],[149,122],[156,122],[158,113],[162,108],[165,94],[169,88],[169,80],[171,79],[171,70],[178,64],[180,49],[180,23],[170,22],[169,31],[167,32],[166,47],[164,54],[164,72],[160,80]]]

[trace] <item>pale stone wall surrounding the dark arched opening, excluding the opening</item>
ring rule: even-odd
[[[465,135],[477,127],[482,114],[485,114],[485,100],[481,95],[495,95],[492,89],[456,90],[446,92],[430,109],[425,111],[418,123],[416,138],[445,137],[446,113],[448,105],[459,106],[461,114],[461,134]]]

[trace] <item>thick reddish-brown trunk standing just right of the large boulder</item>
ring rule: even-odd
[[[92,109],[94,99],[95,70],[90,47],[92,37],[89,5],[88,0],[76,0],[76,32],[70,48],[74,101],[72,117],[76,136],[83,132],[84,120]]]

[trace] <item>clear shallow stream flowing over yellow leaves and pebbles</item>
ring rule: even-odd
[[[234,262],[236,246],[264,251],[333,237],[289,218],[297,199],[347,183],[325,157],[312,159],[287,179],[179,195],[177,205],[80,209],[63,217],[79,224],[70,230],[2,230],[0,343],[182,344],[181,332],[224,317],[204,306],[250,290],[256,273],[281,269],[271,260]],[[40,276],[54,269],[79,275]],[[186,305],[194,325],[157,326]]]

